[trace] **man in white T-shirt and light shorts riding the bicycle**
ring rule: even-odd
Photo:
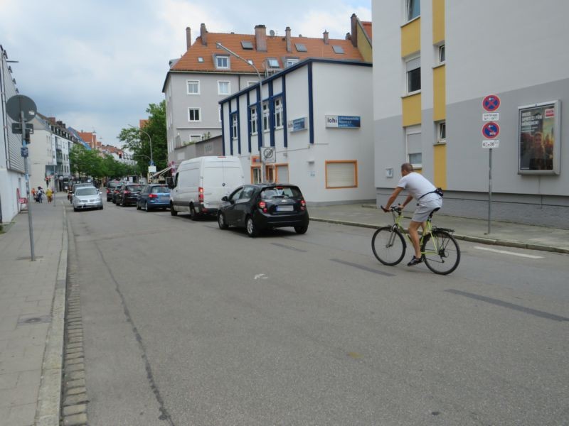
[[[393,193],[389,197],[385,207],[381,207],[383,212],[389,212],[391,204],[398,197],[399,193],[403,190],[407,190],[409,195],[403,202],[403,208],[415,198],[417,203],[417,209],[413,214],[413,218],[409,224],[409,236],[413,242],[413,249],[415,249],[415,255],[411,258],[407,266],[415,266],[422,262],[421,248],[419,246],[419,226],[422,226],[423,231],[425,230],[425,220],[429,217],[430,212],[434,209],[442,207],[442,192],[438,192],[435,185],[432,185],[427,178],[420,173],[416,173],[413,170],[413,165],[410,163],[403,163],[401,165],[401,176],[399,183],[393,190]]]

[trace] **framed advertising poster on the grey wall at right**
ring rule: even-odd
[[[519,173],[558,173],[558,116],[558,102],[519,108]]]

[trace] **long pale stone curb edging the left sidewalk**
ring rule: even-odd
[[[62,204],[63,205],[63,204]],[[67,280],[68,232],[67,214],[63,206],[63,234],[59,255],[52,321],[41,368],[41,383],[36,410],[37,426],[59,426],[62,378],[63,334],[65,329],[65,283]]]

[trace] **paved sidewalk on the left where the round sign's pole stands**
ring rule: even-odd
[[[0,234],[0,425],[59,425],[67,227],[65,194],[33,202]]]

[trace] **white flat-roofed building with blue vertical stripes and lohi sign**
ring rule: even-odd
[[[246,182],[294,183],[311,205],[373,200],[371,64],[307,59],[220,102],[223,153]],[[266,150],[266,151],[265,151]]]

